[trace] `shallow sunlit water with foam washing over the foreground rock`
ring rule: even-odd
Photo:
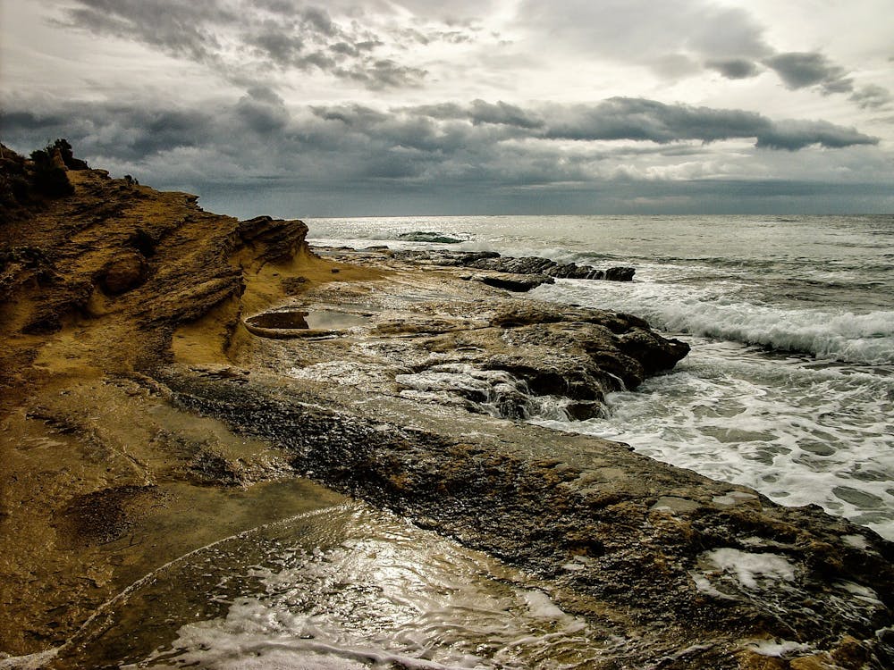
[[[586,668],[606,637],[526,574],[349,503],[174,562],[62,657],[150,668]]]

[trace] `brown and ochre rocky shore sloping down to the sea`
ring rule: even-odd
[[[345,495],[536,574],[612,641],[597,667],[894,663],[890,542],[525,423],[686,356],[636,316],[515,295],[628,269],[311,250],[302,222],[58,158],[49,195],[0,159],[0,667],[114,666],[84,624],[115,594]]]

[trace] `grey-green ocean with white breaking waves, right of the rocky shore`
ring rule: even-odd
[[[894,216],[461,216],[307,221],[311,245],[493,250],[632,283],[530,297],[636,314],[691,353],[600,418],[532,421],[820,505],[894,540]],[[424,233],[424,234],[418,234]],[[419,239],[452,239],[411,241]]]

